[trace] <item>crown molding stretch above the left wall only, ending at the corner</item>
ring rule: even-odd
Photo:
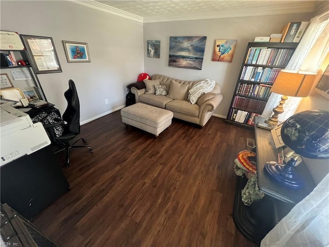
[[[109,13],[109,14],[114,14],[114,15],[118,15],[121,17],[124,17],[126,19],[130,19],[133,21],[137,21],[137,22],[143,22],[143,17],[135,15],[135,14],[131,14],[129,12],[120,10],[120,9],[116,9],[113,8],[111,6],[105,5],[105,4],[101,4],[99,2],[96,2],[94,0],[78,0],[78,1],[69,1],[71,3],[75,3],[75,4],[79,4],[88,8],[92,8],[92,9],[96,9],[105,13]]]

